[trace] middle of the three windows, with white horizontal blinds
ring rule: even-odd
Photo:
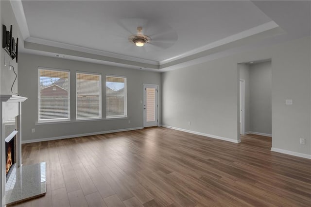
[[[97,74],[76,74],[77,120],[102,118],[101,79]]]

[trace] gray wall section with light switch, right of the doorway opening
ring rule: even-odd
[[[272,56],[272,147],[310,155],[310,36],[281,44],[277,51]],[[285,105],[285,99],[294,104]]]

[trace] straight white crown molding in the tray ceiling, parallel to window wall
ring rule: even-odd
[[[81,47],[81,46],[71,45],[71,44],[62,43],[62,42],[46,40],[46,39],[40,39],[36,37],[28,37],[25,40],[25,42],[30,42],[30,43],[40,44],[40,45],[47,45],[47,46],[52,46],[52,47],[57,47],[57,48],[62,48],[62,49],[67,49],[67,50],[72,50],[72,51],[78,51],[78,52],[86,52],[90,54],[96,54],[96,55],[101,55],[105,57],[112,57],[112,58],[134,61],[134,62],[139,62],[139,63],[146,63],[146,64],[155,65],[155,66],[159,65],[158,61],[147,60],[143,58],[132,57],[132,56],[117,54],[113,52],[105,52],[101,50],[95,50],[95,49],[90,49],[86,47]]]

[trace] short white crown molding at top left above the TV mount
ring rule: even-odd
[[[23,4],[21,0],[10,0],[10,3],[16,17],[21,36],[23,37],[23,40],[25,40],[30,37],[30,33],[28,30]]]

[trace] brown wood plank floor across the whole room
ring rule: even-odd
[[[47,162],[47,194],[22,207],[310,206],[311,160],[167,128],[23,144]]]

